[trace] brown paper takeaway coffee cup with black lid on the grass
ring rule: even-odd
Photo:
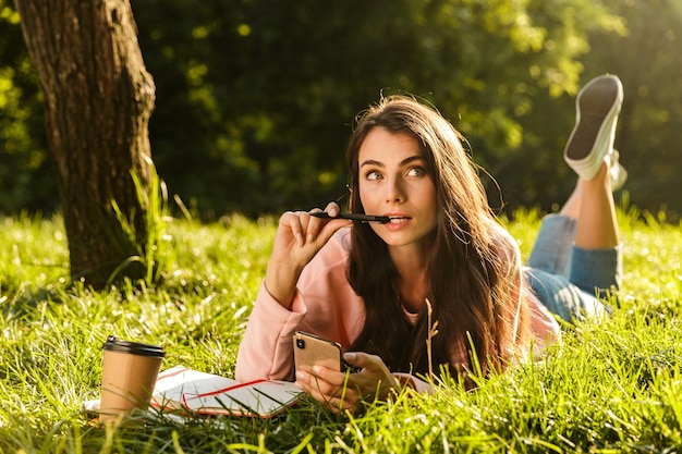
[[[102,348],[100,422],[130,415],[136,408],[148,408],[166,356],[163,348],[113,335],[107,338]]]

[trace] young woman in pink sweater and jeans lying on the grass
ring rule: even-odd
[[[312,216],[319,209],[282,214],[238,380],[295,377],[333,410],[353,408],[402,385],[428,390],[417,377],[429,371],[471,385],[474,368],[503,370],[557,340],[555,315],[572,321],[601,311],[595,292],[619,279],[609,169],[619,169],[611,150],[621,101],[612,76],[579,94],[564,152],[579,183],[564,210],[543,223],[525,269],[452,125],[407,97],[367,110],[346,152],[350,211],[390,221],[333,219],[334,203],[325,208],[331,219]],[[294,370],[297,330],[339,342],[362,370]]]

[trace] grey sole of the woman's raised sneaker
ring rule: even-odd
[[[618,100],[618,83],[611,78],[596,81],[581,95],[579,102],[580,120],[567,146],[569,159],[585,159],[593,149],[604,120]]]

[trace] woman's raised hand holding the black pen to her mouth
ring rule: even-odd
[[[326,211],[334,217],[340,209],[332,201],[327,205]],[[265,277],[265,286],[270,295],[289,309],[303,268],[336,231],[351,224],[352,221],[344,219],[315,218],[306,211],[283,213],[275,234],[272,255]]]

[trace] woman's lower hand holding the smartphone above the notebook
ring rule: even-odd
[[[353,410],[363,401],[386,400],[398,390],[398,380],[378,356],[346,353],[343,358],[362,371],[348,373],[313,366],[296,371],[296,385],[334,413]]]

